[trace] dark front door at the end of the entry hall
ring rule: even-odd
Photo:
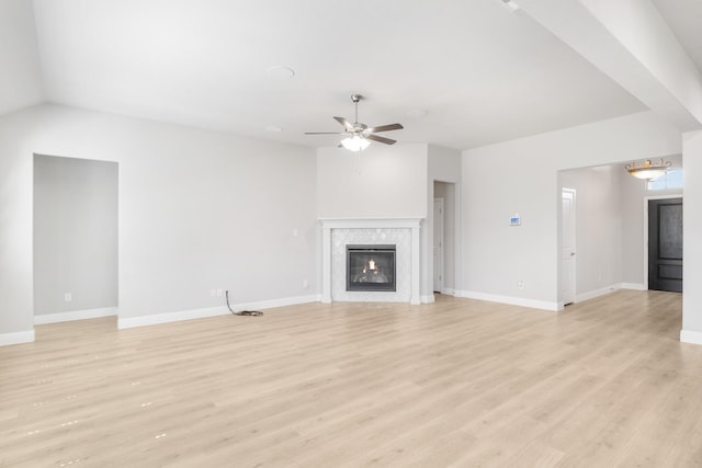
[[[648,289],[682,293],[682,198],[648,201]]]

